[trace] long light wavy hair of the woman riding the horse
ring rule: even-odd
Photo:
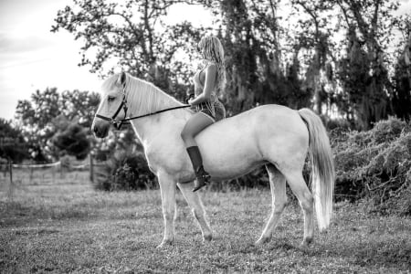
[[[224,62],[224,48],[217,37],[203,37],[198,43],[198,49],[203,53],[206,61],[211,61],[216,64],[217,80],[216,92],[219,95],[226,88],[226,65]]]

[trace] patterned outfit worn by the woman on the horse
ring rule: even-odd
[[[195,84],[195,97],[203,93],[204,83],[201,81],[201,73],[207,66],[198,70],[193,77]],[[216,96],[216,87],[211,91],[210,99],[199,103],[195,106],[196,111],[201,111],[208,116],[211,116],[215,121],[226,118],[226,109]]]

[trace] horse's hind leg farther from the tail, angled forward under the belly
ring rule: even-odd
[[[272,237],[274,228],[279,223],[279,217],[287,204],[286,195],[286,180],[283,174],[271,163],[266,165],[267,172],[269,173],[269,185],[272,195],[272,211],[269,216],[269,221],[264,228],[261,237],[259,237],[256,245],[261,245],[268,242]]]

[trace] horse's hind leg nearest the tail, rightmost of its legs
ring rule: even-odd
[[[313,227],[313,197],[311,192],[302,177],[301,171],[291,171],[286,172],[285,176],[287,182],[290,185],[292,193],[297,196],[302,208],[302,213],[304,214],[304,238],[302,241],[302,246],[308,246],[313,239],[314,227]]]

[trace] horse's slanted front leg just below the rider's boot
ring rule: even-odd
[[[184,195],[187,204],[191,207],[193,215],[200,226],[204,241],[210,241],[213,238],[210,225],[206,220],[204,205],[201,202],[200,196],[193,192],[193,184],[177,184],[182,194]]]

